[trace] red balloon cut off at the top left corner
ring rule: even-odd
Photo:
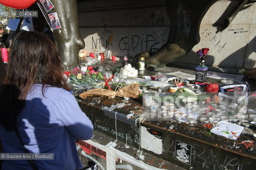
[[[36,0],[0,0],[0,4],[17,9],[26,9],[35,2]]]

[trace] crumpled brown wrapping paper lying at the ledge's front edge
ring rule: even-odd
[[[82,92],[79,95],[82,99],[85,99],[87,96],[108,96],[108,97],[129,97],[129,98],[138,98],[140,94],[139,91],[139,84],[129,84],[121,89],[116,91],[109,90],[109,89],[90,89],[87,91]]]

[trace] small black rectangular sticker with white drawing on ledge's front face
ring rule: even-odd
[[[191,145],[176,141],[175,159],[185,164],[191,164]]]

